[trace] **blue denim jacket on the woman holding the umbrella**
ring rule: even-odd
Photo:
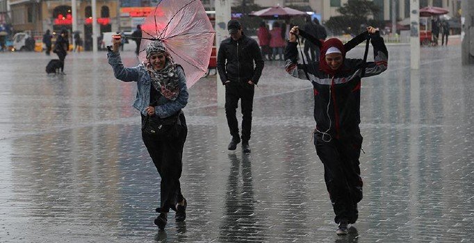
[[[133,107],[147,115],[145,108],[149,105],[150,89],[152,88],[152,78],[145,67],[140,64],[137,67],[124,67],[120,53],[108,51],[108,64],[113,68],[113,75],[115,78],[124,82],[137,82],[137,96],[133,101]],[[181,108],[184,108],[188,103],[188,87],[186,87],[186,76],[181,66],[176,68],[176,73],[179,76],[180,91],[178,97],[174,101],[170,101],[161,96],[158,99],[158,104],[155,108],[155,115],[160,118],[170,117],[176,114]]]

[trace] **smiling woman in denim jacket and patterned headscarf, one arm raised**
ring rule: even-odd
[[[120,34],[113,37],[113,48],[108,47],[108,63],[115,78],[137,82],[137,96],[133,102],[142,117],[142,140],[147,147],[158,174],[161,176],[161,202],[154,223],[163,229],[170,209],[176,211],[176,221],[186,219],[186,199],[181,194],[179,178],[183,167],[183,145],[188,128],[182,108],[188,103],[186,77],[181,65],[174,63],[163,42],[154,40],[145,48],[146,59],[137,67],[124,67],[120,58]],[[149,130],[147,124],[162,126]]]

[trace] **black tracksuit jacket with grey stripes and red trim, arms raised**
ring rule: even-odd
[[[322,72],[319,62],[303,65],[297,63],[296,42],[288,42],[285,51],[286,72],[300,79],[308,79],[313,84],[314,119],[318,131],[340,138],[359,133],[361,76],[381,74],[387,69],[389,53],[382,37],[371,39],[374,61],[345,59],[342,71],[334,76]],[[305,72],[306,70],[306,72]]]

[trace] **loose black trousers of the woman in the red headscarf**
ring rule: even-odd
[[[332,137],[329,142],[315,133],[316,153],[324,165],[325,183],[336,217],[334,221],[348,220],[354,224],[359,216],[357,203],[362,199],[362,178],[359,156],[362,136],[355,133],[344,139]],[[328,136],[325,135],[325,140]]]

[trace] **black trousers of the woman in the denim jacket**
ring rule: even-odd
[[[144,118],[142,115],[142,119]],[[179,178],[183,170],[183,146],[188,135],[188,127],[184,114],[181,113],[179,119],[181,125],[178,125],[178,137],[164,140],[142,133],[142,140],[161,177],[161,202],[158,210],[160,212],[170,212],[170,208],[176,210],[177,203],[183,201]]]

